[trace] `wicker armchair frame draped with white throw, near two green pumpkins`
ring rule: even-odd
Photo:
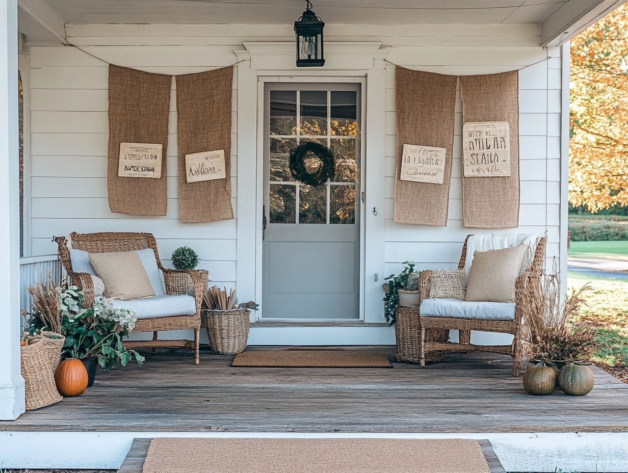
[[[458,262],[458,269],[466,269],[470,267],[471,259],[467,261],[467,246],[473,235],[468,235],[462,247],[462,255]],[[482,237],[482,236],[478,236]],[[485,236],[486,237],[486,236]],[[514,358],[512,366],[512,376],[517,376],[521,369],[521,361],[523,358],[523,337],[522,327],[524,326],[524,313],[522,303],[526,297],[536,297],[541,295],[541,271],[544,267],[545,245],[546,239],[538,236],[512,236],[519,237],[519,241],[526,237],[533,238],[536,247],[532,247],[532,258],[529,259],[528,269],[522,271],[517,277],[515,287],[515,303],[514,303],[514,320],[494,320],[489,318],[460,318],[456,315],[451,317],[432,317],[420,315],[421,322],[421,366],[425,366],[426,354],[432,351],[450,351],[450,352],[470,352],[470,351],[489,351],[510,355]],[[486,248],[486,249],[497,249]],[[467,263],[467,264],[465,264]],[[468,273],[467,273],[468,276]],[[421,303],[427,300],[430,294],[430,278],[431,271],[423,271],[419,280],[419,291]],[[462,302],[462,304],[473,304],[473,302]],[[426,340],[426,329],[445,329],[459,330],[458,343],[437,342]],[[501,332],[514,335],[512,344],[510,345],[475,345],[471,343],[471,330],[479,330],[482,332]]]

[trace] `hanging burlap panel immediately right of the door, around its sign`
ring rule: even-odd
[[[401,224],[447,225],[452,174],[455,75],[442,75],[397,67],[397,166],[394,186],[394,221]],[[447,150],[442,184],[402,181],[404,144]]]

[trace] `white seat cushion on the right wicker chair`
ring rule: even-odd
[[[514,320],[514,302],[468,302],[460,299],[425,299],[421,317],[470,318],[475,320]]]

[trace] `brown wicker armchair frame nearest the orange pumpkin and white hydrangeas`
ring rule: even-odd
[[[161,265],[157,244],[154,236],[149,233],[131,232],[102,232],[102,233],[71,233],[69,235],[72,249],[80,249],[88,253],[114,253],[119,251],[134,251],[150,248],[154,251],[158,269],[163,274],[166,283],[166,295],[180,294],[175,291],[175,285],[180,281],[181,273],[187,273],[192,278],[194,286],[194,300],[196,313],[193,315],[168,315],[167,317],[138,318],[133,332],[153,332],[152,340],[131,340],[124,342],[124,346],[131,348],[140,347],[183,347],[194,351],[194,362],[198,364],[198,344],[200,334],[200,311],[203,300],[203,278],[193,269],[166,269]],[[82,288],[85,295],[85,304],[94,303],[94,283],[89,273],[77,273],[72,269],[70,248],[65,237],[55,238],[58,245],[59,257],[70,276],[73,285]],[[189,312],[192,312],[190,310]],[[159,340],[157,334],[160,330],[192,329],[194,340]]]

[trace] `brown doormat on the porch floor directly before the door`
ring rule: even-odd
[[[252,350],[231,366],[286,368],[392,368],[386,354],[363,350]]]

